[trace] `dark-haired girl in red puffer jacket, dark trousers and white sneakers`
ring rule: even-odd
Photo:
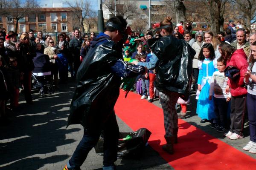
[[[236,78],[229,78],[226,93],[231,93],[230,130],[224,135],[230,139],[243,138],[244,115],[246,115],[247,89],[244,86],[244,73],[247,72],[247,56],[243,49],[234,49],[227,43],[219,46],[220,53],[227,61],[227,67],[232,66],[239,70]],[[255,111],[255,110],[254,110]]]

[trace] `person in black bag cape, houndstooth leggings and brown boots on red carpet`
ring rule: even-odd
[[[179,97],[188,100],[192,81],[192,61],[195,50],[184,40],[172,35],[172,18],[166,17],[157,28],[161,38],[148,40],[153,55],[148,63],[133,62],[148,69],[156,69],[155,87],[159,90],[163,108],[165,139],[163,150],[173,154],[173,144],[177,143],[178,118],[176,103]]]

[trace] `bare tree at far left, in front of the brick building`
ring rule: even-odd
[[[17,33],[19,20],[39,7],[36,0],[1,0],[0,15],[16,20],[15,33]]]

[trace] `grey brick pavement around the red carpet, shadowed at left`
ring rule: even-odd
[[[9,126],[0,126],[0,170],[62,170],[77,144],[81,140],[83,130],[81,125],[71,125],[66,129],[69,104],[73,96],[74,83],[61,86],[61,92],[39,97],[34,92],[34,105],[27,105],[20,96],[20,111],[11,117]],[[140,96],[138,96],[140,97]],[[191,96],[189,115],[185,119],[190,124],[230,144],[241,152],[253,158],[256,155],[242,150],[249,141],[248,125],[245,128],[245,138],[231,141],[222,133],[216,133],[209,123],[199,123],[195,115],[195,96]],[[154,101],[160,107],[159,101]],[[178,109],[179,110],[179,109]],[[119,129],[129,132],[131,129],[117,118]],[[102,169],[103,157],[90,151],[82,170]],[[147,146],[139,159],[121,159],[116,161],[119,170],[172,170],[157,152]]]

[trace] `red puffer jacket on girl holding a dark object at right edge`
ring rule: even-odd
[[[244,87],[244,73],[247,71],[248,62],[244,49],[236,50],[232,54],[230,61],[227,61],[227,66],[234,66],[240,70],[240,78],[236,79],[236,81],[232,81],[229,78],[228,85],[231,88],[231,95],[234,97],[246,95],[247,89]]]

